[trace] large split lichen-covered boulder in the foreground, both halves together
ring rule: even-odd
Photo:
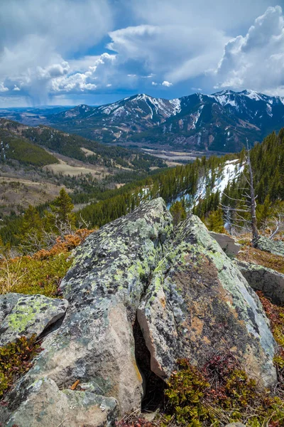
[[[139,409],[136,318],[162,379],[178,357],[203,364],[229,351],[259,386],[276,381],[275,342],[258,297],[197,217],[173,231],[162,199],[89,236],[61,290],[65,318],[6,396],[4,425],[108,426]]]

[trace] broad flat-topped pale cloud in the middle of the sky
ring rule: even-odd
[[[229,40],[222,31],[202,26],[140,25],[111,31],[108,48],[118,64],[140,64],[145,76],[178,83],[214,66]]]

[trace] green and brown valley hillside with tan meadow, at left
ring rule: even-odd
[[[166,166],[147,153],[0,119],[0,219],[52,201],[60,188],[99,194]]]

